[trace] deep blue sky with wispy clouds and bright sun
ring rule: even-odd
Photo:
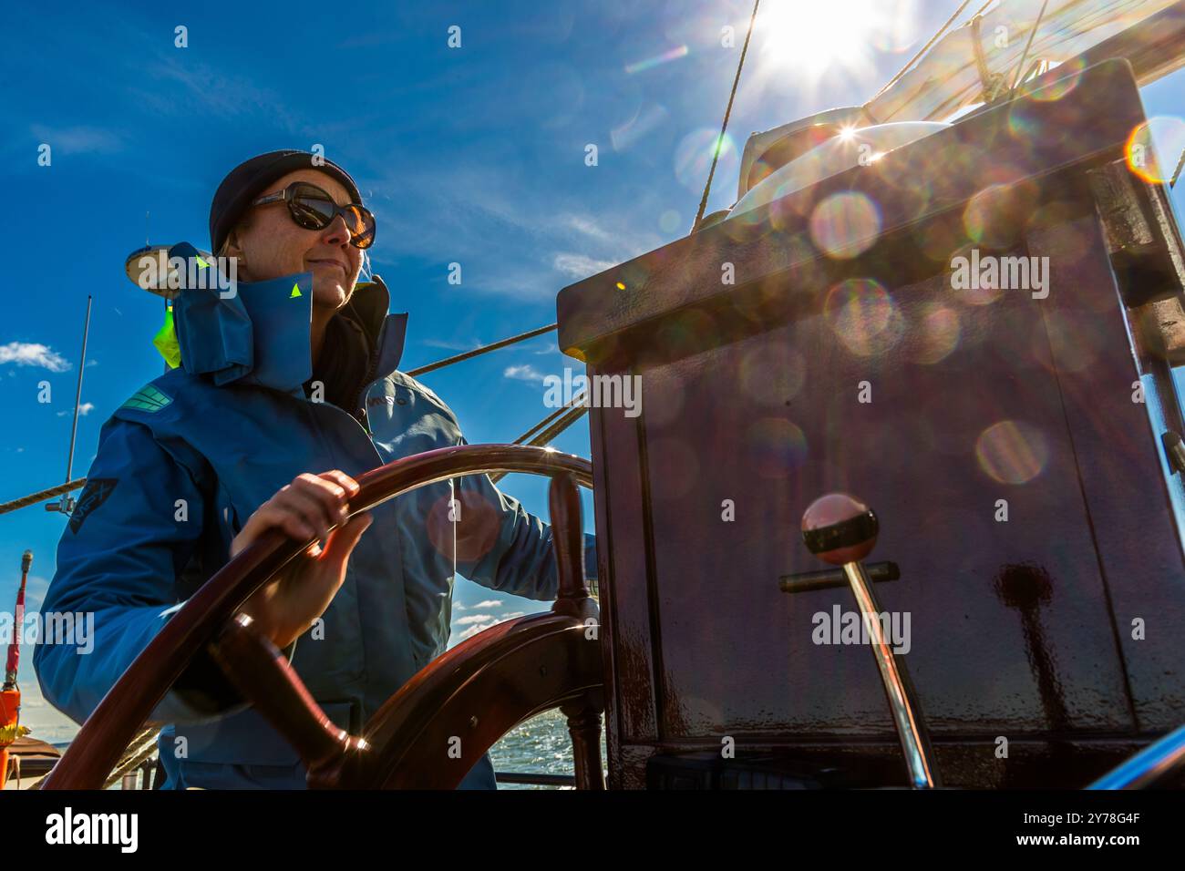
[[[789,0],[764,6],[710,211],[736,199],[750,132],[863,102],[956,4],[837,0],[814,5],[796,32],[779,24]],[[15,244],[0,282],[0,501],[63,480],[88,294],[75,476],[111,411],[160,372],[160,300],[123,276],[145,212],[154,244],[207,248],[210,198],[228,169],[320,143],[377,216],[373,269],[392,310],[410,313],[403,369],[550,324],[564,286],[687,232],[750,11],[750,0],[7,5],[0,159],[13,197],[0,226]],[[188,47],[174,46],[178,25]],[[460,49],[447,45],[453,25]],[[725,25],[735,47],[720,45]],[[820,55],[824,37],[832,57]],[[1180,76],[1145,92],[1161,115],[1179,115],[1181,96]],[[37,164],[41,142],[50,167]],[[450,262],[462,264],[460,287],[447,282]],[[543,337],[424,382],[470,442],[511,441],[549,412],[543,376],[572,363]],[[43,379],[49,404],[37,402]],[[587,427],[556,447],[588,456]],[[545,487],[504,482],[543,517]],[[591,531],[588,499],[585,514]],[[39,506],[0,517],[0,610],[12,608],[25,549],[36,555],[30,609],[39,606],[64,520]],[[540,609],[469,583],[456,602],[455,636]],[[57,723],[24,660],[24,722]]]

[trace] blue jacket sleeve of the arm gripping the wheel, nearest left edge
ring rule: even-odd
[[[72,615],[87,632],[76,633],[78,643],[40,639],[33,651],[45,698],[79,723],[182,604],[178,578],[207,508],[193,470],[130,421],[103,425],[87,479],[41,606],[43,616]],[[200,722],[243,706],[203,651],[149,721]]]

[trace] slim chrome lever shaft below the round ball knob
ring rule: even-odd
[[[844,563],[844,574],[847,575],[848,585],[856,596],[856,603],[860,608],[869,632],[869,640],[872,642],[872,654],[876,657],[877,668],[880,670],[880,681],[889,699],[889,710],[897,728],[901,749],[905,754],[910,784],[915,789],[936,787],[937,767],[934,764],[934,751],[930,749],[925,723],[922,722],[922,709],[910,684],[905,662],[897,661],[885,640],[884,628],[880,625],[880,604],[872,590],[872,582],[860,563]]]

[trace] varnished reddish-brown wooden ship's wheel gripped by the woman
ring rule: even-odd
[[[361,475],[351,515],[429,483],[489,472],[551,476],[559,575],[551,613],[499,623],[438,657],[366,724],[337,728],[270,640],[235,616],[309,542],[270,532],[229,562],[168,621],[83,724],[45,789],[97,789],[153,707],[206,645],[239,692],[300,754],[310,787],[456,787],[519,723],[551,709],[568,717],[576,786],[604,788],[598,613],[584,579],[577,485],[587,460],[529,446],[470,444],[391,462]]]

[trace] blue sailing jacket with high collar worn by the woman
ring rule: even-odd
[[[303,472],[358,476],[398,457],[463,444],[440,397],[397,371],[405,314],[382,280],[359,284],[346,318],[370,370],[354,408],[306,398],[312,275],[185,289],[173,307],[181,366],[141,388],[107,423],[78,507],[62,534],[43,613],[94,613],[90,653],[39,643],[45,697],[82,723],[164,623],[229,558],[251,513]],[[335,350],[326,346],[324,353]],[[486,475],[455,480],[462,512],[492,525],[457,546],[457,571],[499,593],[553,600],[551,529]],[[448,642],[453,596],[449,483],[373,510],[345,583],[289,648],[335,724],[359,734]],[[465,514],[462,513],[462,524]],[[444,532],[442,533],[442,529]],[[589,577],[596,574],[585,536]],[[303,788],[288,743],[199,658],[153,711],[166,788]],[[442,751],[442,764],[449,760]],[[488,757],[463,787],[492,788]]]

